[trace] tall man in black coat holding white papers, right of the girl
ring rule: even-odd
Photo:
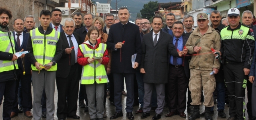
[[[126,116],[133,120],[134,116],[134,76],[136,68],[141,62],[141,42],[139,27],[130,23],[129,11],[127,8],[120,8],[118,12],[120,22],[113,24],[108,33],[107,47],[112,50],[111,72],[114,76],[114,102],[116,112],[110,119],[116,119],[123,116],[122,113],[122,90],[124,84],[122,78],[125,78],[127,98],[126,98]],[[137,54],[134,65],[132,65],[132,55]]]

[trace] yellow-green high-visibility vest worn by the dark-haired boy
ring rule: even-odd
[[[48,64],[52,61],[55,51],[56,44],[60,38],[60,32],[52,30],[50,34],[41,34],[38,28],[31,30],[30,32],[33,54],[36,61],[42,65]],[[37,70],[36,66],[31,65],[32,70]],[[47,71],[56,71],[57,63]],[[38,71],[38,70],[37,70]]]

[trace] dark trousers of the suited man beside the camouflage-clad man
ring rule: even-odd
[[[169,66],[168,99],[169,111],[184,112],[186,110],[186,93],[189,78],[186,77],[184,67]]]

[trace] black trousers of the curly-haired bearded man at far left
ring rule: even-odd
[[[0,106],[4,96],[3,120],[11,120],[12,102],[15,97],[15,80],[0,82]]]

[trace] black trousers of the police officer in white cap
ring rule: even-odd
[[[244,62],[238,64],[226,63],[223,68],[228,89],[229,114],[243,119],[245,88],[248,80],[248,76],[244,75]]]

